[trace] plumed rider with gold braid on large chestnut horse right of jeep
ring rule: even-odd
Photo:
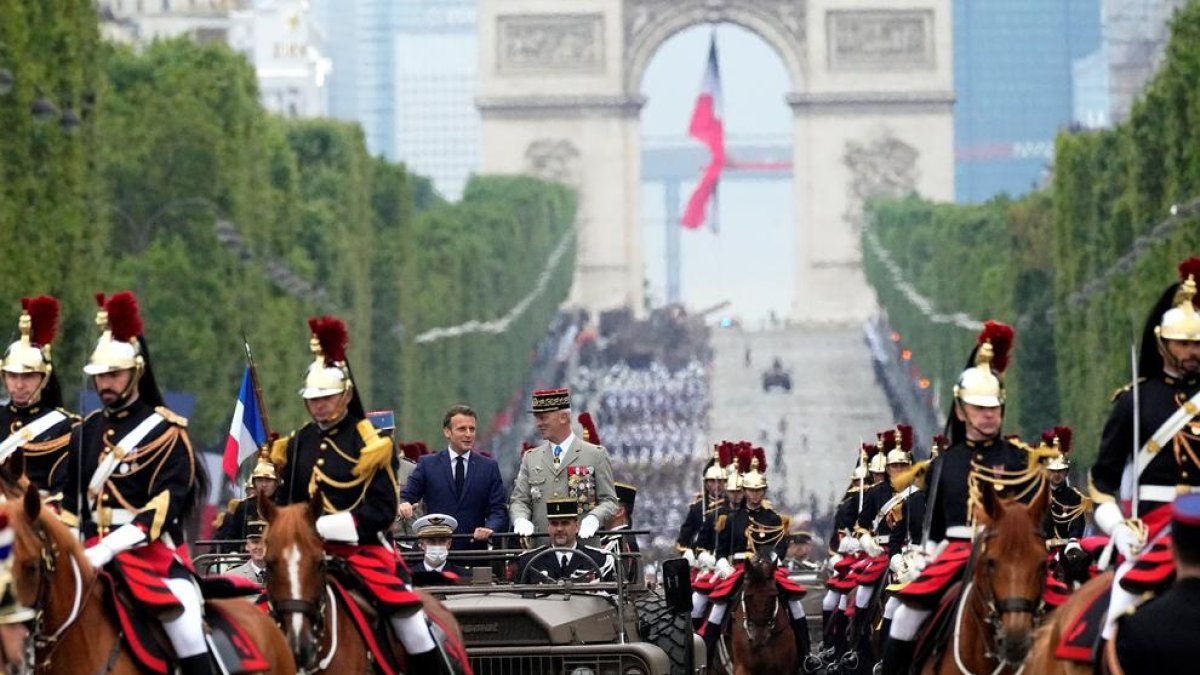
[[[972,490],[1028,482],[1028,453],[1001,435],[1004,384],[1013,329],[986,322],[968,368],[954,386],[950,446],[930,464],[924,542],[934,560],[916,580],[896,591],[896,609],[883,650],[884,675],[907,670],[917,634],[950,585],[961,578],[976,532]],[[1040,471],[1040,466],[1034,467]],[[1032,490],[1028,490],[1032,492]],[[1032,495],[1026,495],[1032,496]]]

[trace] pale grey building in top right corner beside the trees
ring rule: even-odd
[[[1170,20],[1184,0],[1100,0],[1110,118],[1129,117],[1134,101],[1163,62]]]

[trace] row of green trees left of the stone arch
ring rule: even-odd
[[[574,196],[528,178],[478,177],[460,203],[371,157],[361,130],[283,120],[253,68],[187,40],[140,53],[100,41],[90,0],[0,0],[0,300],[64,300],[59,372],[71,393],[96,338],[94,291],[133,289],[160,382],[194,394],[196,440],[218,443],[254,350],[272,426],[304,422],[306,317],[334,313],[368,407],[433,440],[440,411],[486,422],[520,386],[574,259],[502,334],[416,344],[430,328],[505,313],[568,237]],[[73,132],[34,121],[32,101],[82,104]]]

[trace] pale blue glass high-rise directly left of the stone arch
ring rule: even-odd
[[[475,0],[314,0],[313,17],[332,60],[329,114],[457,199],[479,161]]]

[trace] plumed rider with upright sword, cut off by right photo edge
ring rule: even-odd
[[[1138,363],[1142,378],[1114,398],[1090,476],[1096,525],[1124,556],[1112,585],[1104,640],[1111,639],[1114,621],[1141,591],[1154,590],[1156,581],[1169,578],[1165,526],[1171,509],[1165,507],[1177,495],[1200,490],[1200,315],[1195,306],[1200,257],[1180,264],[1180,277],[1146,318]],[[1146,569],[1134,569],[1135,556]],[[1122,587],[1133,581],[1136,587]]]

